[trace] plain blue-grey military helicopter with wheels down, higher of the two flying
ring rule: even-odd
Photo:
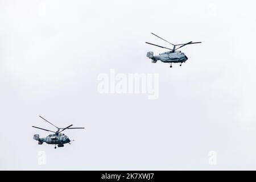
[[[153,33],[151,33],[151,34],[153,34]],[[155,35],[155,34],[153,34],[153,35]],[[155,36],[160,38],[160,36],[158,36],[158,35],[155,35]],[[160,38],[160,39],[164,40],[163,38]],[[168,42],[167,40],[164,40],[164,41],[169,44],[172,44],[172,43]],[[190,45],[190,44],[198,44],[201,42],[188,42],[186,44],[172,44],[172,46],[174,46],[174,48],[172,48],[172,49],[163,47],[163,46],[158,46],[156,44],[152,44],[152,43],[148,43],[148,42],[146,42],[146,43],[150,44],[152,46],[157,46],[157,47],[171,50],[171,51],[160,53],[159,56],[154,56],[154,52],[150,51],[150,52],[147,52],[147,57],[152,60],[152,63],[156,63],[156,61],[158,61],[158,60],[162,61],[163,63],[170,63],[170,68],[172,68],[172,63],[180,63],[180,67],[181,67],[181,64],[185,63],[185,61],[188,60],[188,57],[185,55],[185,53],[183,53],[181,51],[176,51],[177,49],[187,46],[187,45]],[[179,46],[179,47],[176,48],[176,46]]]

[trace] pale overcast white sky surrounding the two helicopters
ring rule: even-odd
[[[255,20],[254,1],[1,0],[0,169],[256,169]],[[171,69],[146,57],[169,46],[150,32],[203,44]],[[159,73],[158,100],[98,94],[111,68]],[[38,115],[86,129],[40,146]]]

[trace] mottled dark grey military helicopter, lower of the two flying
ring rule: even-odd
[[[43,117],[41,117],[39,115],[40,118],[44,119]],[[47,121],[46,119],[44,119],[44,121],[50,123],[49,121]],[[50,131],[54,134],[50,134],[48,135],[47,137],[45,138],[39,138],[39,134],[35,134],[33,139],[37,140],[38,141],[38,144],[43,144],[44,142],[46,142],[47,144],[55,144],[55,147],[56,148],[56,144],[58,147],[64,147],[64,144],[65,143],[69,143],[71,144],[71,140],[68,138],[67,135],[65,135],[64,133],[61,133],[62,131],[66,130],[66,129],[84,129],[84,127],[71,127],[73,125],[69,125],[68,127],[65,127],[65,128],[60,128],[60,127],[57,127],[55,125],[53,125],[52,123],[50,123],[52,126],[56,127],[57,128],[57,131],[51,131],[51,130],[47,130],[47,129],[42,129],[40,127],[36,127],[36,126],[32,126],[32,127],[35,127],[36,129],[40,129],[40,130],[45,130],[45,131]],[[61,131],[60,131],[61,130]],[[73,140],[72,140],[73,141]]]

